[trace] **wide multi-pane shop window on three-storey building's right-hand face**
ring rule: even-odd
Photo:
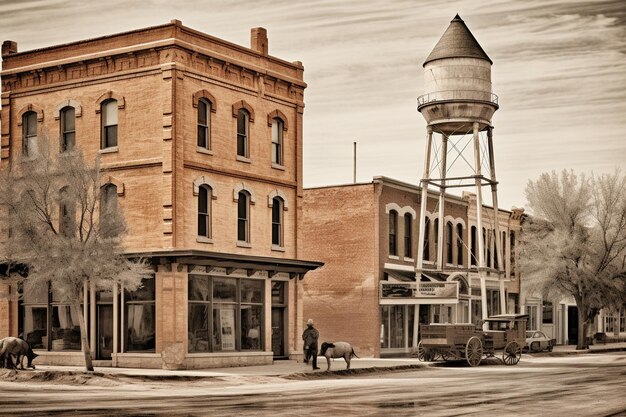
[[[263,349],[264,281],[190,275],[188,296],[189,352]]]

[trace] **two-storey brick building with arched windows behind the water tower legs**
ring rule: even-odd
[[[504,242],[496,253],[494,213],[483,207],[487,266],[481,294],[476,262],[475,195],[446,195],[440,221],[438,194],[427,201],[425,272],[416,279],[421,188],[391,178],[304,190],[305,257],[325,265],[304,281],[304,315],[323,340],[351,342],[359,355],[401,355],[417,346],[417,323],[478,323],[482,303],[489,315],[519,312],[516,242],[522,210],[499,211]],[[445,227],[442,273],[437,233]],[[501,268],[499,268],[501,266]],[[500,269],[500,270],[498,270]]]

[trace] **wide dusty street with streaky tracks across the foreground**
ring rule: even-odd
[[[334,369],[343,369],[343,363],[335,362]],[[233,374],[174,381],[111,375],[64,378],[49,374],[31,381],[3,381],[0,414],[626,415],[625,352],[524,355],[517,366],[490,359],[477,368],[457,362],[357,376]]]

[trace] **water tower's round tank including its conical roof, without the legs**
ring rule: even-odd
[[[474,122],[480,130],[490,126],[498,109],[491,64],[457,14],[424,62],[425,94],[417,108],[428,125],[448,134],[464,134]]]

